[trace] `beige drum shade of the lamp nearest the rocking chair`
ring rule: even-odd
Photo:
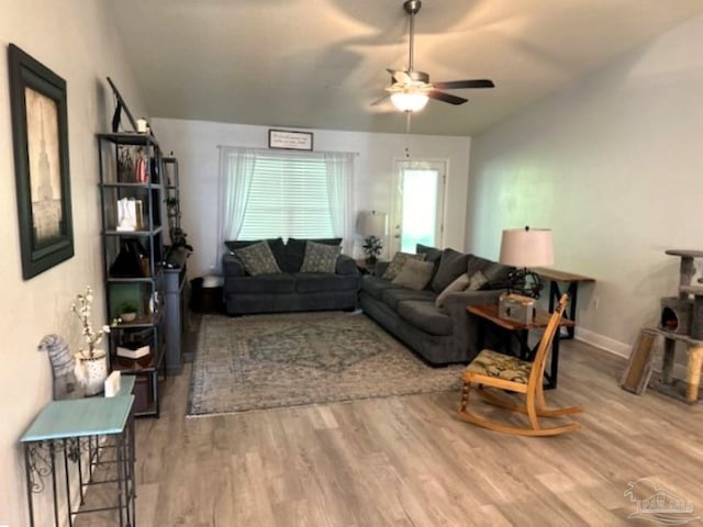
[[[500,262],[520,268],[551,266],[554,244],[550,228],[503,231]]]

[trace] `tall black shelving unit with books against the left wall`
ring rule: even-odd
[[[158,142],[148,134],[98,134],[102,256],[108,319],[136,306],[136,317],[112,327],[111,370],[135,375],[135,415],[159,415],[159,378],[167,354],[164,310],[164,160]],[[134,200],[134,229],[120,225],[120,200]],[[132,359],[119,349],[145,349]]]

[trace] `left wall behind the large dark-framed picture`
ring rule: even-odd
[[[98,209],[97,132],[108,131],[111,96],[104,78],[119,86],[130,106],[140,110],[132,74],[100,0],[2,0],[0,15],[0,525],[29,525],[24,463],[19,439],[52,399],[44,335],[57,333],[79,345],[79,325],[70,318],[74,295],[93,285],[94,324],[104,313]],[[23,281],[20,260],[7,46],[16,44],[63,77],[68,93],[68,142],[75,256]],[[49,485],[51,486],[51,485]],[[46,491],[43,498],[48,498]],[[37,513],[48,509],[40,503]],[[51,525],[40,516],[37,525]]]

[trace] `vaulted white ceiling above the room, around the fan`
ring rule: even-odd
[[[153,117],[405,131],[390,103],[370,105],[390,83],[386,68],[408,66],[403,0],[105,2]],[[703,13],[703,0],[422,3],[415,69],[496,85],[453,90],[469,102],[431,100],[413,115],[412,133],[443,135],[473,135]]]

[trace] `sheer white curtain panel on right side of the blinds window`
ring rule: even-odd
[[[345,254],[352,254],[354,246],[354,157],[350,153],[324,153],[332,226],[335,237],[343,238]]]

